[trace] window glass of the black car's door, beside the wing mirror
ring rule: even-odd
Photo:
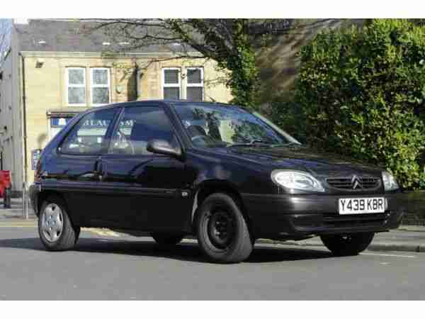
[[[164,109],[159,106],[125,108],[113,132],[109,154],[150,155],[150,140],[166,140],[176,147],[174,129]]]

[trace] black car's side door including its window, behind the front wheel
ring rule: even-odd
[[[165,231],[185,226],[190,213],[189,198],[183,191],[185,164],[147,151],[147,143],[153,139],[181,147],[164,107],[125,107],[108,154],[101,157],[102,211],[111,227]]]

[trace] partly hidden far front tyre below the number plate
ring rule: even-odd
[[[365,250],[375,233],[353,233],[347,235],[322,235],[323,244],[336,256],[353,256]]]

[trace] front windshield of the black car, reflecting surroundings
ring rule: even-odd
[[[277,146],[300,144],[258,113],[238,106],[176,103],[175,110],[197,146]]]

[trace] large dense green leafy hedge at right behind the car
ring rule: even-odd
[[[424,186],[425,27],[386,19],[331,30],[300,58],[294,94],[307,142],[385,165],[405,188]]]

